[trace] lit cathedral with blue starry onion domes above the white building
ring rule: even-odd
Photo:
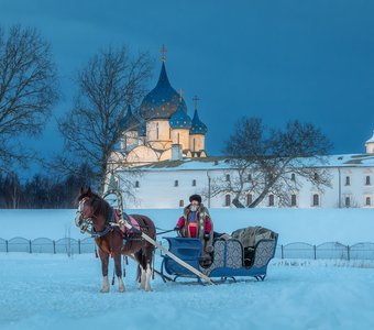
[[[207,127],[199,119],[197,103],[193,119],[188,116],[182,91],[178,94],[168,80],[165,56],[156,87],[144,97],[138,116],[129,107],[123,128],[121,151],[112,158],[129,166],[170,158],[207,157]]]

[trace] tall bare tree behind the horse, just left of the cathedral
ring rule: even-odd
[[[78,95],[59,131],[74,160],[89,164],[99,193],[108,172],[116,169],[108,162],[123,133],[128,107],[140,102],[150,76],[148,54],[132,56],[124,46],[99,52],[78,74]]]

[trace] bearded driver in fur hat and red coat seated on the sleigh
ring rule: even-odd
[[[208,266],[211,264],[211,253],[213,252],[213,223],[208,209],[201,204],[200,195],[189,197],[189,205],[184,209],[175,230],[182,238],[197,238],[202,242],[200,264]]]

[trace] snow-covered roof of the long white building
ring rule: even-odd
[[[226,156],[205,158],[184,158],[182,161],[163,161],[139,166],[141,170],[211,170],[229,169],[230,158]],[[374,167],[373,154],[340,154],[318,158],[305,157],[295,160],[296,166],[305,167]]]

